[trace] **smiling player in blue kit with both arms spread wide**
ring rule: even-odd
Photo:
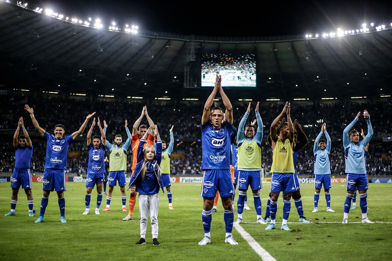
[[[67,153],[69,145],[74,142],[86,128],[87,122],[91,119],[95,112],[89,114],[84,120],[80,128],[72,133],[72,135],[63,137],[65,134],[64,126],[57,124],[54,126],[54,135],[47,133],[38,124],[37,119],[34,117],[34,110],[27,104],[25,110],[30,114],[31,121],[33,122],[34,128],[38,133],[46,140],[46,159],[45,159],[45,171],[44,180],[42,182],[43,196],[41,199],[41,210],[35,223],[44,222],[44,214],[46,207],[48,206],[49,194],[51,191],[57,192],[58,206],[60,207],[60,221],[67,223],[65,220],[65,199],[64,191],[67,190],[65,186],[65,170],[67,169]]]

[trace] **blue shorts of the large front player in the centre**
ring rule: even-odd
[[[200,195],[214,198],[217,190],[221,197],[232,197],[235,194],[230,169],[204,170]]]

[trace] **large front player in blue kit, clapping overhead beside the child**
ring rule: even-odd
[[[223,110],[219,107],[211,109],[214,97],[218,91],[226,107],[226,120],[223,123]],[[199,242],[199,245],[207,245],[211,242],[211,213],[217,190],[219,190],[221,195],[224,208],[225,242],[232,245],[238,244],[232,237],[234,221],[233,193],[235,193],[230,172],[232,124],[233,106],[223,91],[221,76],[216,75],[215,86],[204,105],[201,121],[203,149],[201,169],[204,173],[200,195],[204,199],[202,221],[205,236]]]

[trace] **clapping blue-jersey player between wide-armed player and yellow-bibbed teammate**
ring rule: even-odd
[[[95,118],[93,123],[87,133],[87,146],[88,146],[88,166],[87,166],[87,179],[86,179],[86,196],[84,201],[86,203],[86,210],[83,215],[90,214],[90,199],[91,192],[94,189],[95,184],[97,184],[97,207],[95,208],[95,214],[100,214],[100,206],[102,202],[102,187],[105,181],[105,146],[106,137],[104,130],[101,127],[100,118],[98,118],[98,127],[101,132],[101,137],[98,135],[93,136],[91,141],[91,134],[93,133],[93,128],[95,126]]]

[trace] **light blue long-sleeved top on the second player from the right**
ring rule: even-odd
[[[320,131],[320,133],[314,140],[314,174],[331,174],[331,165],[329,161],[329,153],[331,151],[331,138],[329,137],[327,131],[324,131],[324,134],[327,138],[327,144],[325,149],[318,148],[318,141],[323,135],[322,131]]]

